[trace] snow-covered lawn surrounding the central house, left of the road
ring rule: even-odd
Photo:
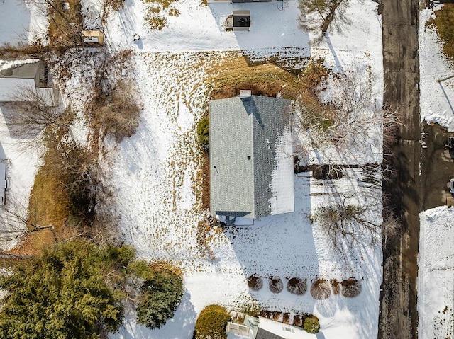
[[[148,331],[130,314],[115,337],[189,339],[204,306],[218,303],[240,310],[252,309],[257,302],[263,309],[316,314],[325,338],[377,335],[380,241],[372,244],[365,237],[364,246],[343,258],[309,219],[317,206],[343,193],[359,205],[373,197],[371,218],[380,224],[381,188],[363,187],[360,170],[347,171],[333,183],[301,173],[295,177],[294,213],[213,231],[209,247],[214,260],[202,258],[197,247],[202,211],[196,198],[201,190],[196,180],[201,154],[195,129],[209,100],[207,69],[228,58],[225,51],[243,50],[251,59],[323,57],[338,71],[369,69],[377,103],[381,103],[381,28],[375,4],[352,1],[352,25],[314,48],[308,45],[311,37],[298,28],[297,1],[284,5],[285,11],[279,11],[280,5],[216,2],[206,7],[198,1],[179,1],[180,15],[169,18],[160,32],[148,30],[140,1],[127,1],[126,8],[109,19],[109,47],[136,52],[135,79],[144,111],[133,137],[105,146],[104,184],[112,188],[115,203],[100,208],[116,216],[126,242],[133,243],[140,257],[180,265],[186,290],[175,318],[162,329]],[[250,10],[250,32],[223,30],[223,18],[233,8]],[[133,42],[135,33],[141,37],[138,42]],[[365,161],[381,161],[380,151],[371,152],[369,145],[362,154]],[[265,280],[259,292],[248,289],[246,279],[251,274]],[[308,288],[316,277],[339,281],[355,277],[362,292],[354,299],[331,295],[324,301],[316,301],[309,291],[301,297],[285,289],[272,294],[267,288],[270,275],[281,277],[284,285],[286,277],[306,278]]]

